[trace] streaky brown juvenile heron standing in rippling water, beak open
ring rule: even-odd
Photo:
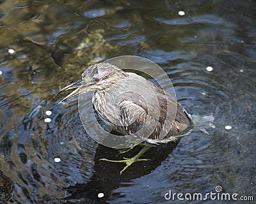
[[[134,81],[142,85],[144,84],[145,87],[149,87],[156,98],[145,101],[145,98],[140,96],[140,94],[124,92],[125,87],[133,84]],[[134,136],[134,138],[143,138],[145,137],[143,133],[137,135],[141,127],[144,126],[146,127],[145,129],[148,129],[155,124],[150,135],[143,138],[143,140],[148,143],[166,143],[173,141],[178,137],[177,135],[186,133],[194,124],[186,110],[184,110],[172,96],[166,94],[163,89],[145,78],[136,75],[136,73],[125,72],[113,64],[102,62],[88,67],[83,72],[81,80],[68,85],[61,91],[75,88],[76,90],[62,99],[60,103],[78,94],[92,91],[93,106],[100,119],[102,119],[107,126],[115,129],[115,131],[123,135]],[[113,101],[115,101],[115,103],[112,103]],[[154,115],[156,104],[159,105],[157,106],[159,112],[157,112],[157,115]],[[168,105],[171,107],[170,113],[167,113]],[[174,115],[173,119],[168,119],[168,114]],[[166,120],[170,121],[166,122]],[[116,123],[116,121],[119,121],[119,123]],[[166,127],[166,124],[169,124],[169,127]],[[166,133],[163,136],[161,133],[163,133],[164,128]],[[148,148],[149,145],[146,145],[131,159],[124,158],[124,160],[121,161],[102,160],[126,163],[125,168],[120,172],[122,173],[136,161],[148,161],[149,159],[140,159]]]

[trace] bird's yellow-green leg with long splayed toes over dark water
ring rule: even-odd
[[[140,150],[136,156],[131,157],[131,158],[125,158],[124,160],[109,160],[109,159],[100,159],[101,161],[110,161],[110,162],[115,162],[115,163],[125,163],[126,166],[123,168],[122,171],[120,171],[120,175],[129,167],[131,164],[136,163],[136,161],[150,161],[150,159],[140,159],[140,157],[147,152],[147,150],[150,149],[149,146],[143,147],[143,149]]]

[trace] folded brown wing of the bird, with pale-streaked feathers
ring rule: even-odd
[[[138,82],[148,84],[155,95],[143,98],[134,92],[131,100],[131,94],[122,94],[119,98],[120,118],[126,133],[136,134],[140,138],[149,136],[150,139],[163,139],[188,128],[191,118],[172,96],[145,78],[129,74]],[[141,128],[143,130],[138,134]]]

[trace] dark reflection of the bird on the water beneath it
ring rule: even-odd
[[[141,157],[150,159],[150,161],[136,162],[127,168],[121,175],[120,171],[124,168],[124,163],[108,163],[106,161],[100,161],[100,159],[108,157],[109,159],[122,160],[123,157],[132,157],[136,155],[143,147],[137,145],[129,152],[119,154],[118,150],[99,145],[94,159],[95,172],[93,173],[90,182],[68,187],[67,192],[69,196],[64,199],[65,202],[84,200],[86,203],[95,203],[97,201],[102,203],[108,200],[112,191],[121,187],[123,183],[127,183],[132,179],[138,179],[154,171],[170,155],[178,143],[179,140],[151,147]],[[104,193],[104,197],[99,198],[99,193]]]

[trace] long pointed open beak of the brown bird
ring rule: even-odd
[[[69,89],[76,89],[75,91],[72,91],[70,94],[68,94],[68,96],[66,96],[65,98],[63,98],[59,103],[62,103],[63,101],[66,101],[69,98],[72,98],[74,96],[77,96],[78,94],[81,94],[82,92],[86,91],[86,88],[90,86],[88,84],[85,84],[84,81],[78,80],[77,82],[74,82],[70,85],[67,85],[67,87],[64,87],[63,89],[61,89],[60,92],[58,92],[58,94],[60,94],[63,91],[67,91]]]

